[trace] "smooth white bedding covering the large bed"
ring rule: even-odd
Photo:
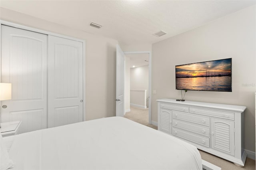
[[[122,117],[11,137],[12,170],[202,170],[195,146]]]

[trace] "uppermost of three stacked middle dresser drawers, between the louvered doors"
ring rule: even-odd
[[[189,115],[186,113],[179,113],[179,112],[172,112],[172,118],[174,119],[181,119],[185,121],[189,121],[192,123],[199,123],[201,125],[210,125],[210,118],[209,117],[200,117],[200,116],[194,116]]]

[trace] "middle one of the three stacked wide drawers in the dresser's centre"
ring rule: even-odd
[[[196,126],[196,125],[192,125],[190,123],[186,123],[186,122],[182,122],[176,119],[172,120],[172,127],[174,128],[182,128],[185,130],[188,130],[190,132],[195,132],[204,136],[208,136],[210,135],[210,130],[208,127],[201,127],[201,126]]]

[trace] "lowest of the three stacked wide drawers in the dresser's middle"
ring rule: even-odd
[[[196,143],[201,144],[203,146],[206,146],[208,148],[210,147],[209,138],[205,138],[205,137],[202,137],[202,136],[197,136],[195,134],[191,134],[189,132],[185,132],[183,130],[179,130],[179,129],[176,129],[176,128],[172,128],[172,134],[175,135],[175,136],[185,138],[185,139],[190,140],[192,142],[196,142]]]

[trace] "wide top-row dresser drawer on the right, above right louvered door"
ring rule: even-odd
[[[197,109],[194,107],[190,107],[189,113],[209,115],[209,116],[213,116],[213,117],[220,117],[220,118],[234,120],[234,113],[230,113],[230,112],[211,111],[211,110],[206,110],[206,109]]]

